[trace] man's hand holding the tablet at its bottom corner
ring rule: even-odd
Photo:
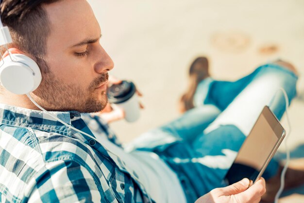
[[[249,186],[250,181],[244,178],[231,186],[211,190],[195,203],[259,203],[266,192],[265,180],[261,178]]]

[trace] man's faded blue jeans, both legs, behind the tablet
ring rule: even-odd
[[[177,173],[187,202],[194,202],[225,186],[223,179],[263,107],[268,105],[281,119],[285,100],[278,89],[286,90],[290,102],[296,82],[293,72],[274,64],[235,82],[204,80],[197,87],[194,109],[143,134],[134,148],[157,153]],[[268,179],[277,169],[271,160],[263,176]]]

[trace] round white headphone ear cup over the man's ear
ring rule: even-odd
[[[0,67],[0,83],[8,91],[23,95],[33,92],[41,83],[40,68],[24,54],[12,54],[3,59]]]

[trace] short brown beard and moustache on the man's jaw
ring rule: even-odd
[[[33,98],[48,111],[99,112],[108,100],[105,91],[101,92],[101,100],[98,100],[96,88],[108,81],[108,78],[108,73],[102,73],[88,88],[84,88],[79,84],[66,84],[50,71],[43,74],[41,84],[33,92]]]

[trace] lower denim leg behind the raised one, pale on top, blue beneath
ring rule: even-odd
[[[220,110],[214,105],[193,108],[168,124],[140,135],[126,148],[151,151],[165,149],[176,141],[192,143],[219,114]]]

